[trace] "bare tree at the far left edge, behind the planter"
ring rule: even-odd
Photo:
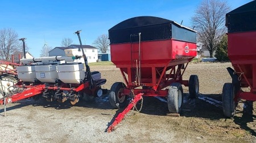
[[[0,57],[9,60],[11,55],[20,50],[18,33],[11,28],[0,30]]]

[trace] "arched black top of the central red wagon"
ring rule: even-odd
[[[196,31],[183,27],[175,21],[154,16],[138,16],[118,23],[109,29],[110,44],[175,39],[195,42]]]

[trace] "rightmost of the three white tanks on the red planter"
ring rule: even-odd
[[[63,63],[57,66],[59,80],[67,84],[80,84],[84,80],[84,64],[82,63]]]

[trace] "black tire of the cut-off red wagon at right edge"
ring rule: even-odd
[[[232,83],[225,83],[222,89],[222,109],[224,116],[228,118],[232,118],[236,114],[234,96],[234,85]]]

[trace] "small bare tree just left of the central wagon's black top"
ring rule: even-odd
[[[107,53],[109,51],[109,38],[108,34],[102,34],[98,36],[97,39],[93,42],[93,45],[97,47],[101,53]]]

